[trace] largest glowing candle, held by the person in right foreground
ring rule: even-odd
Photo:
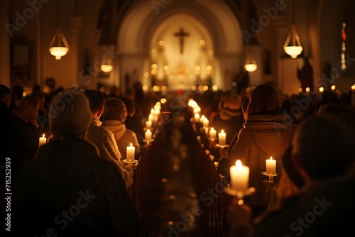
[[[241,160],[236,160],[236,165],[229,169],[231,174],[231,188],[244,192],[249,187],[249,167],[242,165]]]

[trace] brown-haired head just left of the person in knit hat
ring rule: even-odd
[[[37,121],[38,108],[39,108],[38,99],[31,95],[28,95],[26,97],[23,97],[23,99],[21,99],[18,107],[13,109],[12,112],[16,116],[19,116],[24,120],[33,123],[33,125],[35,125],[36,127],[38,127],[38,121]]]

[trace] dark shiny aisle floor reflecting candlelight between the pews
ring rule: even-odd
[[[192,185],[190,154],[182,140],[182,126],[184,117],[173,117],[164,128],[165,144],[159,144],[159,153],[151,161],[155,168],[148,177],[149,237],[203,236],[195,216],[199,201]]]

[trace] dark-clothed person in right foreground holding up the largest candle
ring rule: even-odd
[[[282,176],[295,189],[277,184],[282,199],[278,208],[253,220],[249,206],[229,206],[229,236],[348,236],[354,231],[355,162],[349,128],[329,116],[307,118],[290,149],[283,157]]]

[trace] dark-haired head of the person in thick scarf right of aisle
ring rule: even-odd
[[[267,84],[260,84],[253,89],[249,97],[246,116],[253,114],[266,114],[280,111],[278,92]]]

